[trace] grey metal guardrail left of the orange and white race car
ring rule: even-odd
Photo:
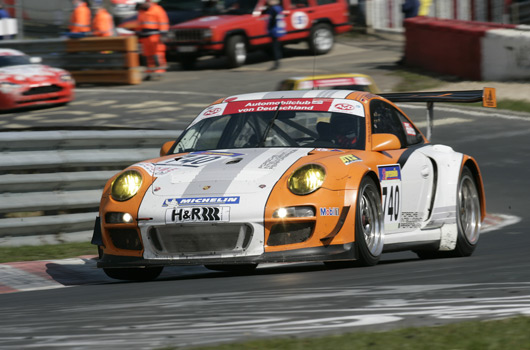
[[[86,240],[106,181],[180,132],[0,132],[0,246]]]

